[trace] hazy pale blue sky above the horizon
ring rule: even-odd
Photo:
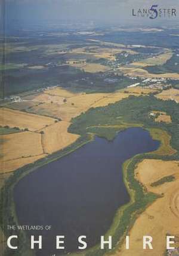
[[[3,1],[3,0],[2,0]],[[176,8],[179,20],[178,0],[5,0],[7,20],[20,19],[24,22],[35,20],[97,20],[101,23],[132,23],[132,8]],[[149,17],[141,18],[143,23],[151,22]],[[162,19],[161,19],[162,20]],[[159,19],[153,20],[156,24]]]

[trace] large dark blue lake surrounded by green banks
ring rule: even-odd
[[[57,235],[66,237],[65,252],[77,251],[80,235],[87,236],[88,248],[98,243],[116,210],[129,201],[122,163],[158,146],[159,141],[148,131],[129,128],[113,141],[95,137],[21,179],[14,188],[19,223],[53,227],[51,231],[27,232],[43,235],[43,249],[37,255],[55,254]]]

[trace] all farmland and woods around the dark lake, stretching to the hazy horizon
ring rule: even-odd
[[[142,127],[160,147],[124,163],[131,201],[116,212],[107,234],[114,237],[112,255],[143,255],[146,233],[156,241],[155,254],[163,255],[160,237],[179,236],[178,38],[164,28],[89,31],[28,31],[29,37],[21,31],[7,38],[7,63],[0,67],[0,187],[10,185],[4,187],[4,216],[14,223],[8,195],[30,171],[73,152],[94,135],[110,141],[119,131]],[[129,251],[124,249],[126,232]],[[96,245],[84,255],[105,253]]]

